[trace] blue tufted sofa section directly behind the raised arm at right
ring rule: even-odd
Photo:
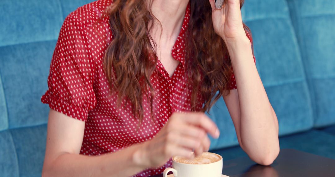
[[[256,66],[277,114],[279,134],[310,129],[311,100],[286,1],[245,1],[242,16],[253,35]],[[211,149],[238,144],[223,99],[210,114],[222,132],[218,140],[212,140]]]

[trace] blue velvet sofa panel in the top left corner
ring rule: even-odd
[[[0,46],[58,38],[63,18],[59,1],[1,0]]]

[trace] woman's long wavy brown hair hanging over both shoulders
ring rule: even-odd
[[[244,0],[240,0],[242,7]],[[113,40],[104,56],[104,70],[112,90],[118,93],[117,105],[126,98],[133,114],[143,119],[143,96],[151,105],[155,91],[150,76],[155,70],[156,43],[150,35],[153,21],[159,23],[149,6],[139,0],[114,0],[106,9]],[[209,111],[224,94],[229,94],[231,61],[227,48],[215,32],[208,0],[191,0],[191,14],[186,32],[186,72],[192,84],[191,110],[197,106],[197,95],[204,100],[202,112]],[[160,24],[160,23],[159,23]],[[243,23],[246,31],[250,29]],[[151,45],[151,42],[153,46]],[[151,59],[150,59],[151,57]],[[150,91],[150,92],[149,92]]]

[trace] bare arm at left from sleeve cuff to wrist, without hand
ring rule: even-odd
[[[85,122],[50,109],[42,176],[131,176],[146,167],[135,164],[136,144],[116,153],[79,155]]]

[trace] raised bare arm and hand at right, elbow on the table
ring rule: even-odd
[[[224,96],[239,143],[258,164],[270,165],[279,154],[278,120],[254,63],[251,43],[244,31],[240,0],[225,0],[212,20],[224,40],[232,63],[237,89]]]

